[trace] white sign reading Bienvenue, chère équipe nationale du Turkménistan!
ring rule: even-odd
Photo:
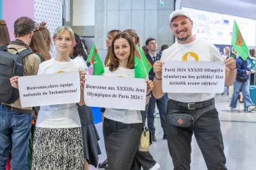
[[[79,72],[24,76],[18,79],[22,108],[78,103]]]

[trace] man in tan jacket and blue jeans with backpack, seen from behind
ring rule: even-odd
[[[32,19],[19,17],[14,22],[15,41],[10,42],[7,46],[7,48],[12,48],[8,52],[16,54],[17,51],[22,52],[26,49],[32,51],[29,45],[33,36],[33,30],[34,22]],[[23,59],[23,65],[23,76],[36,75],[40,65],[40,59],[36,54],[30,54]],[[0,169],[5,169],[12,140],[12,169],[27,170],[28,140],[32,126],[32,108],[22,108],[20,99],[10,104],[1,103],[0,117]]]

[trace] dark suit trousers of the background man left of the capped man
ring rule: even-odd
[[[150,97],[150,104],[148,107],[148,129],[152,132],[152,134],[155,134],[156,128],[154,126],[154,111],[156,105],[158,106],[159,115],[160,115],[160,121],[162,130],[166,132],[166,123],[165,123],[165,117],[166,117],[166,95],[161,97],[160,99],[156,99],[153,95]]]

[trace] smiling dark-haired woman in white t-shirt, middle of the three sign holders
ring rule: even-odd
[[[105,67],[103,75],[134,78],[134,52],[135,44],[131,37],[126,33],[117,34],[111,45],[109,67]],[[146,83],[148,84],[146,103],[148,103],[149,93],[154,85],[152,81]],[[106,108],[103,134],[109,169],[131,168],[139,146],[141,130],[142,118],[139,111]]]

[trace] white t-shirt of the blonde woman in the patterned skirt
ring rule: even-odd
[[[58,62],[55,58],[52,58],[39,65],[38,75],[79,70],[83,70],[83,67],[77,65],[73,60],[69,62]],[[41,128],[81,127],[76,103],[40,106],[36,126]]]

